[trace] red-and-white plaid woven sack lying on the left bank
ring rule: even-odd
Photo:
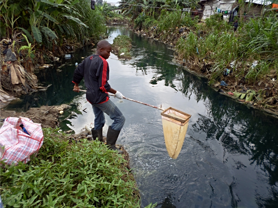
[[[20,125],[23,124],[26,131],[23,132]],[[17,165],[19,161],[24,163],[30,161],[32,154],[38,153],[44,142],[44,135],[40,123],[33,123],[25,117],[8,117],[0,129],[1,160],[11,165]]]

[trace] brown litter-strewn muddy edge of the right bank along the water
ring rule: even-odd
[[[219,93],[227,95],[238,102],[249,105],[250,107],[262,109],[276,117],[278,116],[278,77],[275,70],[270,70],[263,80],[251,83],[245,79],[244,76],[235,76],[233,70],[244,69],[243,71],[248,71],[250,68],[252,69],[252,67],[255,67],[260,63],[252,59],[234,61],[234,63],[231,62],[231,64],[227,66],[227,72],[225,74],[223,72],[221,73],[223,74],[221,79],[213,81],[214,74],[210,72],[214,65],[213,60],[210,60],[209,58],[201,60],[194,55],[192,58],[185,60],[182,55],[177,52],[176,46],[178,39],[181,37],[185,38],[192,30],[194,30],[194,28],[172,28],[170,32],[168,31],[168,35],[165,35],[167,31],[158,32],[155,26],[150,27],[148,30],[141,31],[138,30],[138,28],[134,28],[133,25],[130,25],[128,28],[137,34],[167,44],[169,49],[176,51],[175,60],[179,64],[183,65],[190,73],[209,79],[208,85],[213,87]],[[253,65],[254,63],[255,65]]]

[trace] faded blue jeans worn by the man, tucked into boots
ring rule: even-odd
[[[104,113],[114,120],[111,129],[120,131],[125,123],[125,117],[119,108],[111,101],[108,100],[101,104],[92,104],[95,114],[95,130],[101,129],[105,123]]]

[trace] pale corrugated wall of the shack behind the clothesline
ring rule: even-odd
[[[204,21],[209,18],[210,15],[213,15],[216,7],[222,10],[232,10],[234,8],[232,6],[234,2],[235,0],[210,0],[204,2],[203,17],[201,20]],[[225,15],[224,18],[228,21],[229,15]]]

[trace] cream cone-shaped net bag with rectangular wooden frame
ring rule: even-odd
[[[177,159],[191,115],[169,107],[162,111],[161,116],[166,149],[171,158]]]

